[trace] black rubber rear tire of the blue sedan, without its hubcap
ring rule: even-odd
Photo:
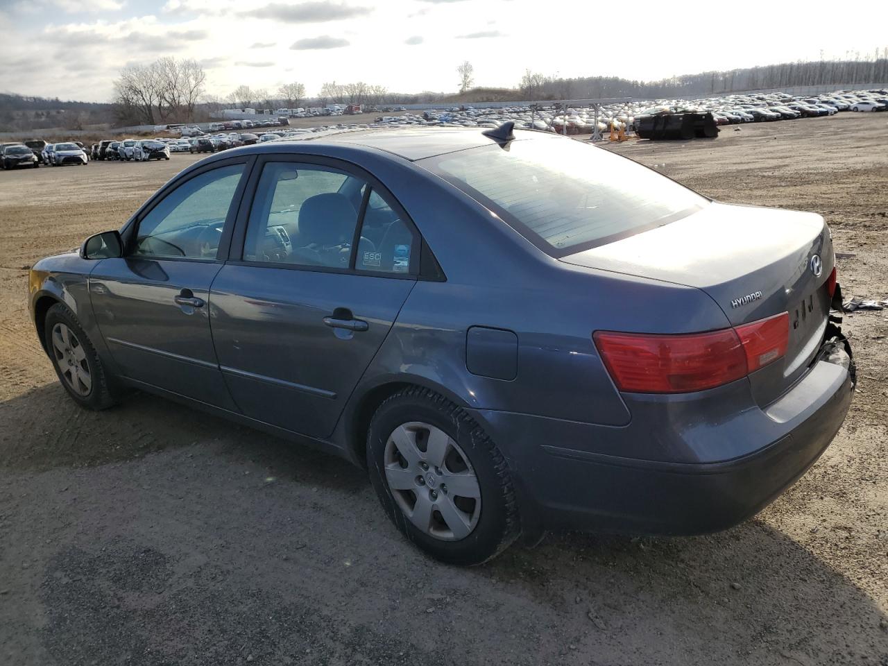
[[[447,432],[460,448],[478,478],[481,514],[472,534],[460,541],[441,541],[425,534],[407,518],[385,481],[385,444],[398,426],[421,421]],[[508,472],[497,471],[495,456],[502,456],[478,424],[456,406],[430,392],[401,392],[385,400],[368,431],[367,463],[370,480],[385,512],[400,532],[423,551],[449,564],[480,564],[496,556],[514,539],[515,507]]]

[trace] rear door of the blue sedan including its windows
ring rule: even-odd
[[[210,296],[220,369],[247,416],[327,437],[416,283],[419,236],[351,165],[267,155],[251,179]]]

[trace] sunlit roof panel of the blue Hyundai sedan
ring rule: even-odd
[[[492,139],[485,137],[477,128],[378,128],[372,130],[339,130],[316,132],[298,137],[279,139],[266,143],[281,146],[304,141],[377,148],[412,161],[433,155],[453,153],[479,146],[488,146]]]

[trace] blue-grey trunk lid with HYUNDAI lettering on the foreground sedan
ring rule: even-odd
[[[812,267],[815,256],[819,274],[816,260]],[[711,203],[668,225],[561,260],[702,289],[732,326],[788,312],[786,355],[749,376],[763,406],[805,373],[826,330],[826,283],[835,256],[829,227],[814,213]]]

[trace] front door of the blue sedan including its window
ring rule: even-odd
[[[222,264],[244,163],[197,172],[141,216],[123,258],[90,276],[93,312],[124,376],[234,409],[210,335],[210,285]],[[226,222],[227,220],[227,222]]]

